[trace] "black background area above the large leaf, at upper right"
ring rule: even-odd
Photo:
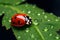
[[[45,12],[52,12],[54,15],[60,16],[60,0],[26,0],[21,4],[24,3],[36,4],[37,7],[44,9]]]

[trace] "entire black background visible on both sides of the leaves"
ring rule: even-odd
[[[60,0],[26,0],[21,4],[24,3],[36,4],[37,7],[44,9],[45,12],[52,12],[54,15],[60,16]],[[5,26],[2,26],[3,16],[4,14],[0,16],[0,40],[16,40],[12,29],[6,30]],[[60,33],[60,31],[58,31],[58,33]]]

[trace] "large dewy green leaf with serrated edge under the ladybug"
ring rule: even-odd
[[[56,32],[60,29],[60,17],[44,12],[35,5],[0,5],[0,14],[2,13],[5,13],[2,24],[7,29],[12,28],[17,40],[60,40],[60,35]],[[10,20],[16,13],[28,14],[32,18],[31,26],[25,30],[12,27]]]

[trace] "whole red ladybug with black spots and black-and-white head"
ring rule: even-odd
[[[31,25],[31,18],[26,14],[15,14],[11,18],[11,25],[15,27],[22,27],[25,25]]]

